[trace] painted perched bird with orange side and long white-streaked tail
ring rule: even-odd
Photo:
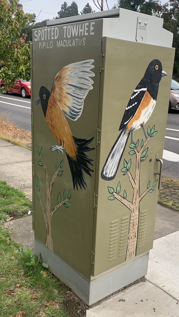
[[[131,142],[133,142],[133,131],[142,127],[147,139],[143,126],[150,118],[156,105],[159,82],[162,76],[166,75],[167,73],[162,70],[162,63],[158,59],[149,63],[144,77],[130,97],[119,127],[119,131],[122,131],[110,150],[102,169],[101,177],[104,180],[115,178],[130,133]]]

